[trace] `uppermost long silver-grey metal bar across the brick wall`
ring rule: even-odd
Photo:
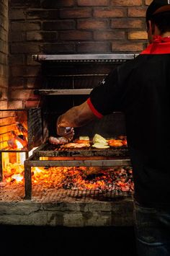
[[[34,61],[117,61],[117,60],[130,60],[135,58],[132,53],[120,54],[37,54],[32,55]]]

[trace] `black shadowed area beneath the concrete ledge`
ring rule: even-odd
[[[133,227],[0,226],[1,256],[135,256]]]

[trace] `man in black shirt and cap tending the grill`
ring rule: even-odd
[[[170,255],[170,1],[154,0],[146,12],[150,45],[112,71],[89,99],[58,118],[60,136],[113,111],[125,113],[135,183],[138,255]]]

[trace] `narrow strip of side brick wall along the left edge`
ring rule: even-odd
[[[8,98],[8,1],[0,1],[0,109]]]

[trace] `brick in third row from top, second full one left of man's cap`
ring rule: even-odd
[[[79,20],[77,28],[80,30],[103,30],[107,28],[107,21],[100,20]]]

